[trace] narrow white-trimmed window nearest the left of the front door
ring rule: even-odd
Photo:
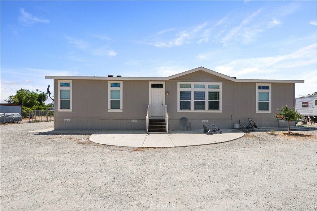
[[[108,82],[108,111],[122,112],[122,81]]]

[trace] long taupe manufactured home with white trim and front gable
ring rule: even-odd
[[[239,79],[204,67],[166,78],[45,78],[54,79],[55,130],[145,130],[151,119],[164,121],[165,129],[178,130],[182,117],[191,123],[189,129],[212,123],[233,128],[238,120],[248,124],[248,118],[257,127],[277,127],[277,108],[294,108],[295,83],[304,83]]]

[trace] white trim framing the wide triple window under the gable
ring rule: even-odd
[[[179,84],[191,84],[191,88],[179,88]],[[194,88],[194,84],[204,84],[205,88]],[[219,84],[219,89],[208,89],[208,85]],[[191,110],[181,110],[179,91],[191,91]],[[207,110],[194,110],[194,91],[205,91],[205,109]],[[208,110],[208,91],[219,91],[219,110]],[[222,83],[221,82],[177,82],[177,112],[183,113],[222,113]]]

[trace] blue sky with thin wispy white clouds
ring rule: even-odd
[[[45,75],[166,77],[200,66],[237,78],[305,80],[296,97],[317,91],[316,1],[0,6],[1,102],[20,88],[45,91],[53,86]]]

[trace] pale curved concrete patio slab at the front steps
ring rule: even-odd
[[[244,136],[244,132],[225,128],[222,133],[204,134],[202,129],[146,133],[145,130],[101,130],[89,138],[92,142],[111,146],[129,147],[178,147],[217,144]]]

